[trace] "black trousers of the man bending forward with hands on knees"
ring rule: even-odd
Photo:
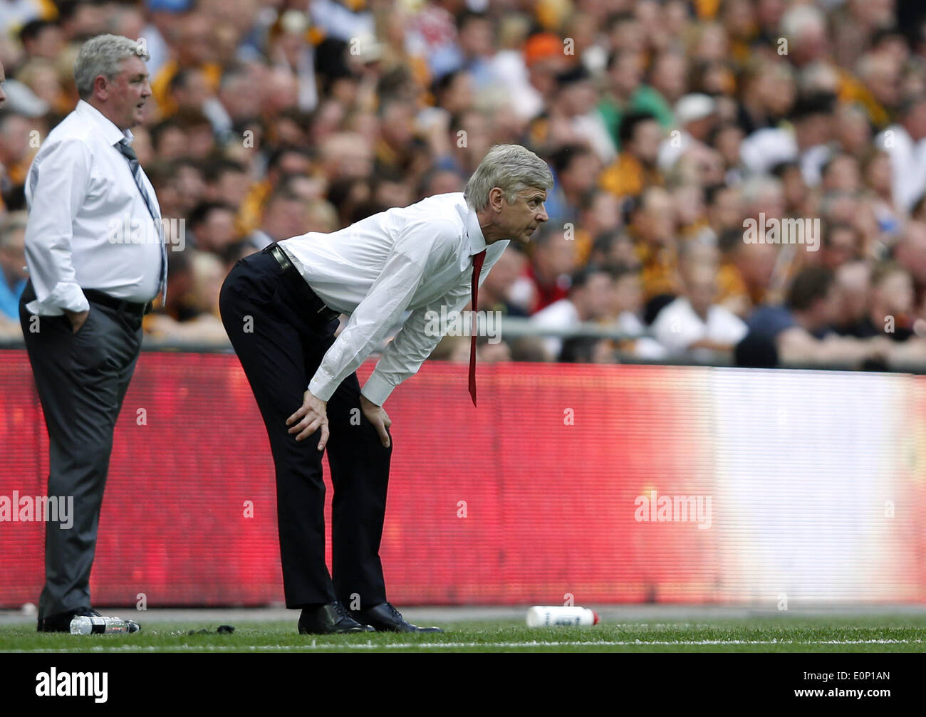
[[[360,410],[357,374],[345,378],[327,408],[325,451],[334,487],[329,574],[320,431],[296,441],[286,426],[337,328],[336,319],[314,320],[306,304],[266,252],[239,261],[219,295],[222,323],[254,391],[276,466],[286,607],[341,600],[367,609],[386,600],[379,551],[392,447],[382,447]]]

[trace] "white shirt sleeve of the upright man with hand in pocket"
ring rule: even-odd
[[[74,219],[87,194],[92,160],[85,142],[57,142],[33,164],[26,178],[26,264],[35,303],[56,315],[62,309],[81,312],[90,306],[71,263],[71,240]]]

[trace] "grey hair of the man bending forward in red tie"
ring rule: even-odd
[[[477,212],[489,204],[489,192],[498,187],[505,201],[514,204],[518,192],[553,187],[553,173],[546,162],[520,144],[495,144],[485,153],[463,191],[467,204]]]

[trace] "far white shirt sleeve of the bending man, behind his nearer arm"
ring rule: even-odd
[[[507,241],[496,241],[486,248],[485,261],[479,275],[479,285],[488,276],[490,269],[507,247]],[[389,395],[406,378],[418,373],[419,368],[434,351],[443,337],[445,327],[435,329],[435,316],[441,315],[441,307],[453,320],[457,312],[462,311],[470,299],[472,291],[471,274],[468,274],[456,287],[447,293],[441,301],[416,309],[408,316],[405,324],[382,350],[380,360],[364,384],[361,393],[369,400],[381,406]],[[439,323],[438,323],[439,326]]]

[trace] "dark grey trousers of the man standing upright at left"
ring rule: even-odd
[[[34,298],[29,283],[19,321],[48,428],[48,496],[73,498],[73,525],[45,524],[42,619],[92,607],[90,569],[113,430],[142,346],[142,322],[91,302],[74,334],[65,315],[32,315],[26,303]]]

